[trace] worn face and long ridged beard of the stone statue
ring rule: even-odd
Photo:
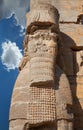
[[[32,36],[28,42],[30,86],[52,86],[55,81],[57,43],[51,35]]]

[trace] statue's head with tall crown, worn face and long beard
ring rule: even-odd
[[[26,36],[31,86],[51,85],[54,83],[54,68],[58,51],[58,11],[51,5],[42,6],[41,4],[37,10],[34,9],[34,14],[27,16],[27,19],[30,20],[29,23],[27,21]]]

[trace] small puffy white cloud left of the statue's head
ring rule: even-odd
[[[18,68],[22,53],[16,43],[11,41],[4,42],[2,43],[2,50],[1,60],[7,71]]]

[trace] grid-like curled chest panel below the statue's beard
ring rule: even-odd
[[[41,125],[46,122],[56,122],[55,90],[46,86],[30,87],[31,97],[28,100],[28,123]]]

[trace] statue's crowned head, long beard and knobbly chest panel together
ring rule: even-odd
[[[28,121],[34,127],[50,123],[54,125],[57,118],[54,86],[59,13],[54,6],[39,3],[26,15],[26,19],[25,41],[28,42],[24,42],[24,46],[30,63],[29,86],[32,93]]]

